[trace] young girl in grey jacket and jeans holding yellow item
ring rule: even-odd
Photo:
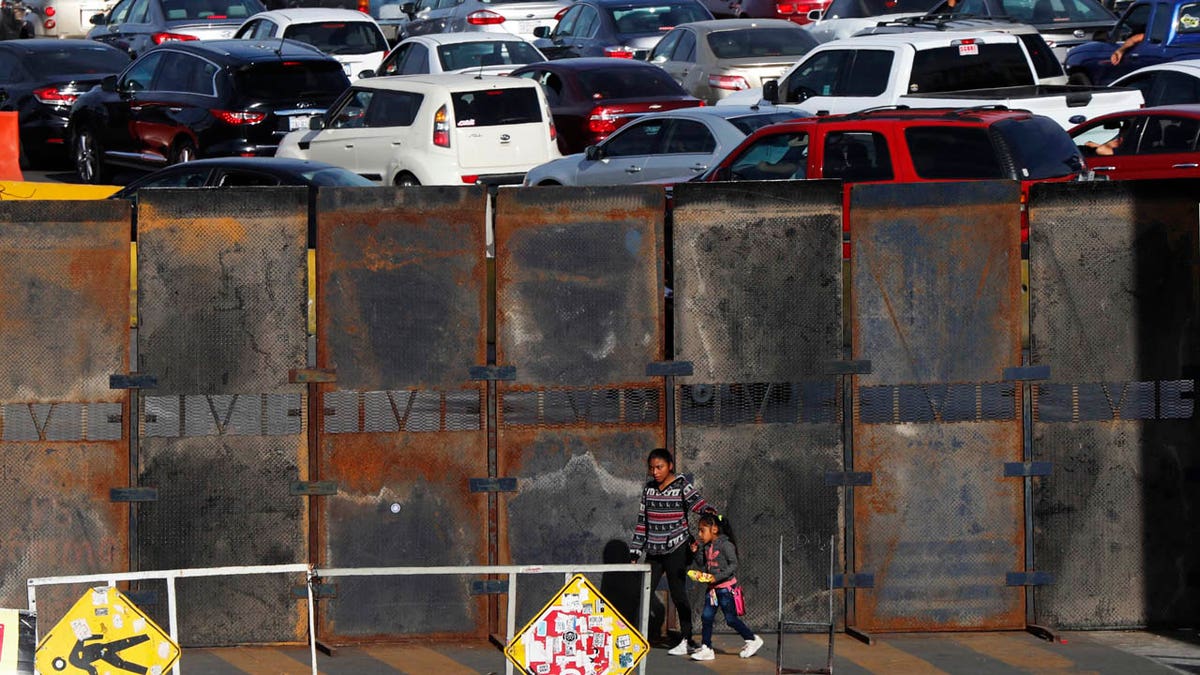
[[[730,521],[716,514],[702,515],[700,516],[700,531],[696,536],[700,542],[692,542],[691,550],[695,552],[695,565],[700,573],[692,577],[708,583],[708,598],[704,602],[704,611],[701,614],[703,625],[701,641],[703,644],[691,657],[696,661],[716,658],[716,655],[713,653],[713,620],[716,619],[716,608],[721,608],[725,622],[746,641],[738,656],[750,658],[762,647],[762,638],[755,635],[739,619],[744,609],[742,607],[742,589],[738,587],[738,578],[736,577],[738,551],[733,543]]]

